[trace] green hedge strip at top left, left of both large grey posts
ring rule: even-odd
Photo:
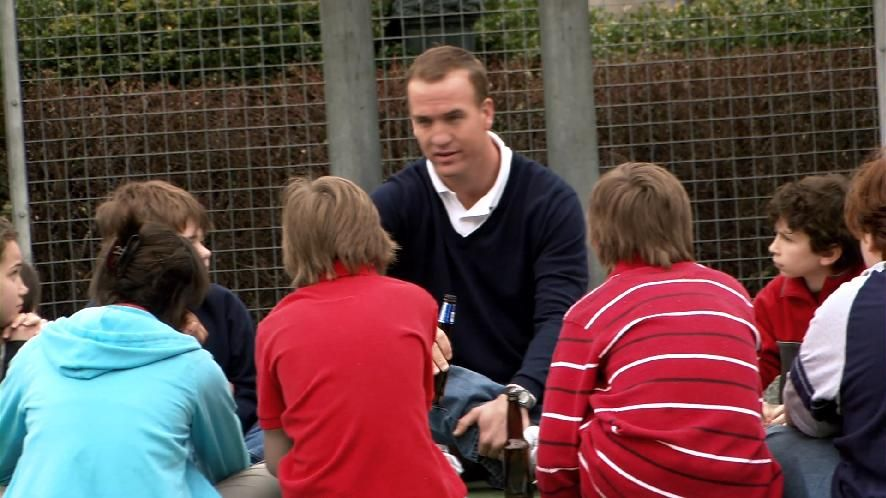
[[[252,79],[320,60],[318,2],[263,0],[18,2],[25,79],[140,76]],[[264,71],[264,73],[263,73]]]

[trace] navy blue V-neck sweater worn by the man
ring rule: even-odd
[[[420,159],[372,194],[400,245],[388,274],[438,302],[458,297],[453,363],[542,399],[563,314],[588,285],[578,196],[544,166],[514,154],[498,206],[467,237],[452,227]]]

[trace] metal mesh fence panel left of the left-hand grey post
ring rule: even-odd
[[[273,306],[280,186],[327,168],[317,2],[32,0],[17,17],[43,312],[86,302],[95,207],[147,178],[210,210],[213,279]]]

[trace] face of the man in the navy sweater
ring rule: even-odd
[[[463,69],[440,81],[419,79],[406,89],[412,133],[422,153],[443,180],[457,179],[476,168],[490,144],[494,108],[486,98],[477,103],[476,92]]]

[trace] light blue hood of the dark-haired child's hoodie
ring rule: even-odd
[[[147,311],[129,306],[85,308],[44,327],[35,340],[65,377],[92,379],[201,349]]]

